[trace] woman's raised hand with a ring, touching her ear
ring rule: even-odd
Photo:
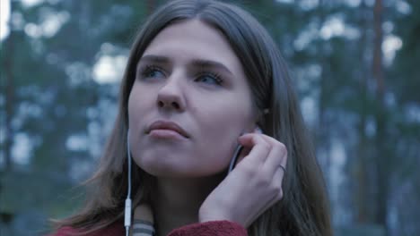
[[[228,220],[247,228],[283,198],[284,144],[260,133],[242,135],[239,142],[251,150],[200,206],[200,222]]]

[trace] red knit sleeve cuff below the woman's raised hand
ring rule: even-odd
[[[206,223],[192,223],[175,229],[168,236],[246,236],[247,230],[239,223],[230,221],[210,221]]]

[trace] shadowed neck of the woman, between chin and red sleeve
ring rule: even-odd
[[[156,235],[198,222],[198,210],[221,177],[196,179],[157,178],[153,200]]]

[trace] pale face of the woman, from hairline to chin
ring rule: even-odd
[[[219,31],[198,20],[171,24],[146,48],[128,118],[136,164],[184,178],[225,170],[241,132],[256,122],[240,60]]]

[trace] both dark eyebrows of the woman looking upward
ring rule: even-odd
[[[140,58],[139,63],[144,63],[144,62],[168,64],[168,63],[171,63],[171,59],[169,57],[162,56],[162,55],[144,55],[142,56],[142,58]],[[221,71],[228,72],[233,75],[233,73],[223,63],[196,58],[196,59],[193,59],[190,64],[195,67],[200,67],[200,68],[221,70]]]

